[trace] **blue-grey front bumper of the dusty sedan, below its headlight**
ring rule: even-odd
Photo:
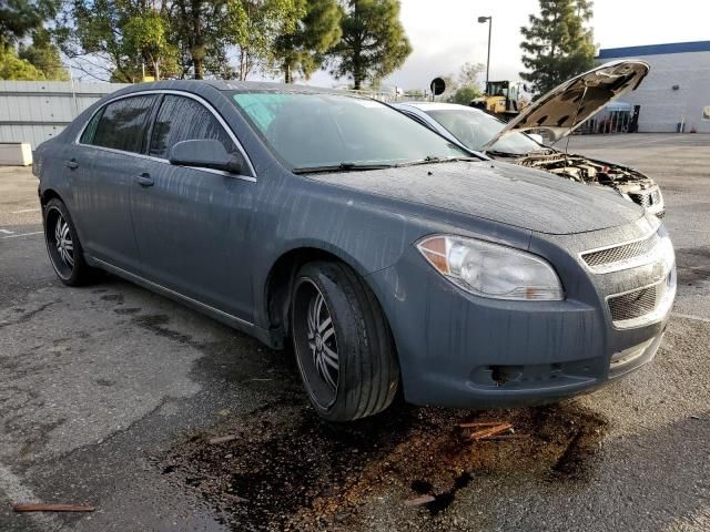
[[[649,362],[670,305],[647,324],[620,329],[605,290],[633,283],[633,272],[616,280],[607,274],[596,284],[580,266],[561,270],[570,288],[564,301],[473,296],[414,249],[371,274],[395,338],[407,401],[457,408],[540,405],[595,390]]]

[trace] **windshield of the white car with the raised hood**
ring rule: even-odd
[[[480,151],[490,139],[506,126],[505,122],[495,116],[464,106],[446,110],[426,110],[425,112],[458,139],[462,144],[475,151]],[[542,149],[540,144],[528,135],[514,132],[497,141],[487,151],[517,155]]]

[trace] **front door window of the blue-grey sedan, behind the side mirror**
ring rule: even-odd
[[[230,135],[204,105],[191,98],[166,95],[151,134],[150,155],[168,158],[174,144],[205,139],[220,141],[227,153],[236,152]]]

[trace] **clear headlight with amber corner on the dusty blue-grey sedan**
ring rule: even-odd
[[[495,299],[565,299],[559,277],[545,259],[511,247],[452,235],[417,243],[417,249],[460,288]]]

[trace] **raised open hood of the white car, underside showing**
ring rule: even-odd
[[[612,61],[579,74],[528,105],[481,150],[514,131],[547,130],[558,141],[608,103],[635,91],[649,69],[643,61]]]

